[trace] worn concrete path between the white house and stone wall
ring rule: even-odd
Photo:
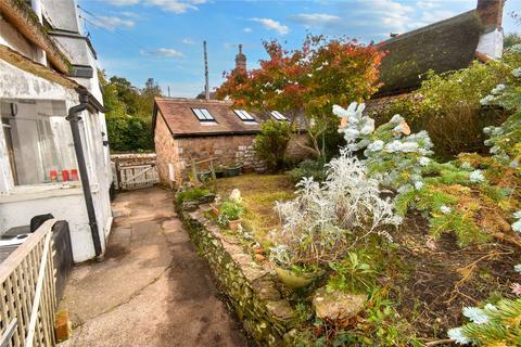
[[[60,346],[246,346],[173,198],[160,188],[116,197],[105,260],[76,267],[60,304],[74,326]]]

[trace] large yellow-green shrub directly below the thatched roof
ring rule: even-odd
[[[384,124],[395,114],[404,115],[412,131],[429,132],[434,152],[443,159],[461,152],[487,153],[482,129],[500,125],[509,113],[500,107],[483,107],[480,100],[505,82],[520,62],[521,54],[507,52],[500,61],[475,62],[441,75],[429,72],[414,98],[392,102],[376,120]]]

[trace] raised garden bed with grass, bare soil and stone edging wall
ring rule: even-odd
[[[190,210],[180,216],[245,330],[263,345],[306,346],[317,337],[332,343],[339,332],[355,345],[364,338],[363,345],[421,345],[446,338],[448,329],[463,322],[462,307],[514,298],[509,279],[519,277],[513,266],[521,255],[512,245],[496,241],[460,248],[452,233],[433,240],[427,220],[411,214],[393,233],[391,246],[369,239],[357,250],[374,269],[377,283],[357,319],[342,329],[317,323],[313,293],[326,283],[292,292],[266,259],[269,231],[279,227],[274,204],[292,198],[294,187],[282,175],[244,175],[215,184],[214,192],[224,197],[241,191],[243,230],[219,227],[207,200],[188,204]]]

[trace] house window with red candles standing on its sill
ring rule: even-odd
[[[4,146],[15,185],[71,179],[76,155],[64,101],[1,101]],[[67,171],[67,172],[65,172]]]

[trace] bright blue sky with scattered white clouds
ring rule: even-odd
[[[211,89],[234,66],[244,46],[247,68],[266,59],[263,40],[298,48],[307,33],[381,41],[475,8],[476,0],[77,0],[79,13],[107,76],[143,87],[154,78],[164,94],[194,98],[204,89],[203,41],[207,41]],[[509,13],[504,31],[521,31]]]

